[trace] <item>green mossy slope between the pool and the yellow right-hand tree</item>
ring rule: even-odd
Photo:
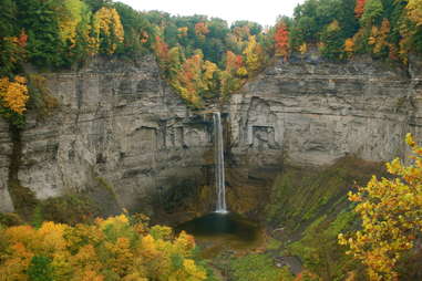
[[[300,237],[287,244],[287,253],[300,257],[305,268],[323,280],[343,280],[359,269],[337,236],[357,227],[346,195],[372,174],[382,174],[382,165],[344,157],[323,169],[285,166],[275,181],[268,222],[284,227],[288,237]]]

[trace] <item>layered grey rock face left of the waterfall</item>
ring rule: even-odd
[[[21,185],[39,199],[102,186],[121,207],[151,212],[152,198],[167,188],[203,184],[212,124],[191,117],[153,58],[97,59],[45,76],[59,108],[44,121],[29,113],[19,169]],[[0,164],[4,187],[8,162]]]

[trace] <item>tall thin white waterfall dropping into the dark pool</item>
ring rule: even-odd
[[[215,112],[214,118],[214,145],[215,145],[215,186],[217,189],[217,206],[215,211],[219,214],[227,212],[226,206],[226,185],[224,175],[224,143],[223,126],[219,112]]]

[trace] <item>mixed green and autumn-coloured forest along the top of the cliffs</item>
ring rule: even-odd
[[[370,54],[406,64],[409,54],[422,53],[421,6],[420,0],[308,0],[292,18],[263,28],[140,12],[106,0],[2,0],[2,115],[22,122],[25,85],[31,89],[24,63],[56,70],[79,67],[93,55],[131,60],[153,53],[165,79],[193,107],[226,98],[276,58],[315,49],[328,60]]]

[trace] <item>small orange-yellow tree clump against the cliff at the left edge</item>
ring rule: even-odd
[[[14,76],[14,82],[8,77],[0,79],[0,102],[1,105],[18,113],[23,114],[29,100],[27,80],[23,76]]]

